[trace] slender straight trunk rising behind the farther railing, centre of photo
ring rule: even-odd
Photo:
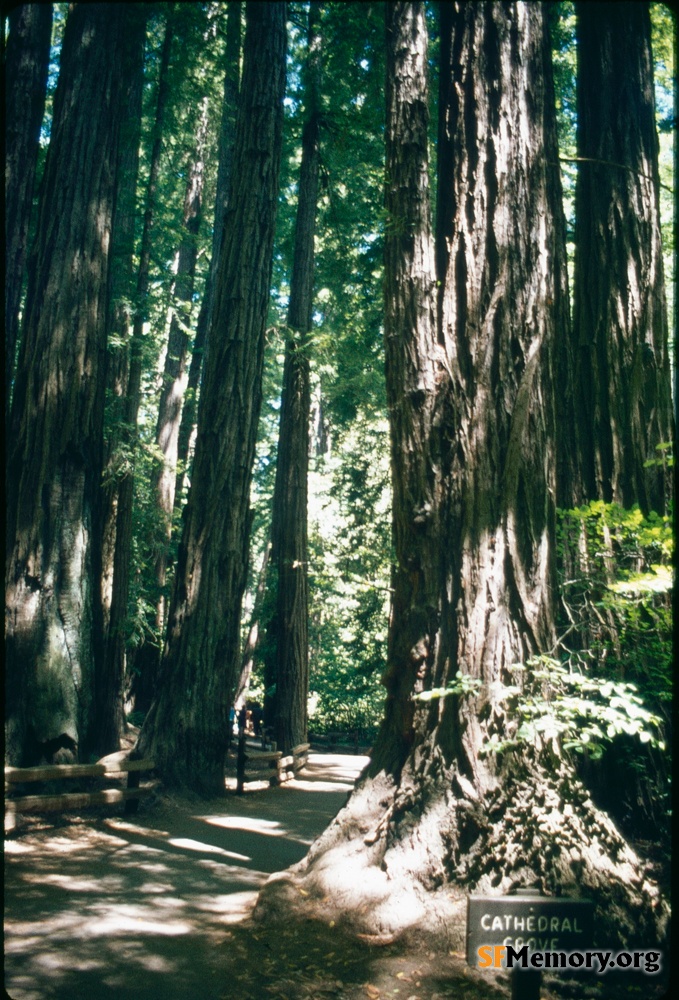
[[[309,333],[314,290],[314,231],[318,200],[320,34],[318,3],[309,6],[306,122],[302,134],[295,254],[290,279],[278,459],[271,526],[276,566],[274,732],[281,750],[307,736],[309,696],[307,493],[311,384]]]

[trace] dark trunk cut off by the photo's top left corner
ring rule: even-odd
[[[9,422],[28,225],[45,110],[52,4],[9,14],[5,55],[5,420]]]

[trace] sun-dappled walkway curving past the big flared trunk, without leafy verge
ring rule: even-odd
[[[221,956],[272,872],[299,861],[366,757],[311,754],[280,788],[161,799],[132,821],[45,824],[5,845],[12,1000],[217,1000]]]

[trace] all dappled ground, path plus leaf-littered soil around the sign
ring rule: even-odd
[[[253,921],[269,876],[301,860],[367,758],[312,754],[294,781],[209,802],[155,793],[111,809],[24,817],[5,843],[12,1000],[500,1000],[504,973],[464,955],[362,940],[304,917]],[[608,977],[605,977],[608,978]],[[619,992],[641,1000],[653,992]],[[627,987],[627,984],[625,984]],[[632,989],[632,984],[629,984]],[[600,997],[601,981],[560,995]],[[543,1000],[553,998],[543,985]]]

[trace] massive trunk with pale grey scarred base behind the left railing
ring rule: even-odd
[[[69,14],[12,402],[7,758],[92,740],[93,533],[126,8]],[[82,109],[87,108],[87,115]],[[57,210],[58,208],[58,210]]]

